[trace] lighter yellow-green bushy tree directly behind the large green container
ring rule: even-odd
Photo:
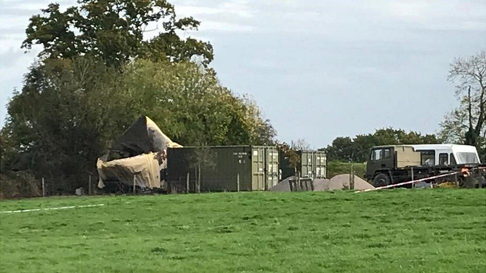
[[[139,60],[125,82],[135,107],[182,145],[263,145],[275,136],[254,101],[222,87],[212,69]]]

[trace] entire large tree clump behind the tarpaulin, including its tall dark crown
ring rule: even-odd
[[[96,158],[140,115],[183,145],[274,142],[256,103],[221,86],[208,68],[211,44],[177,35],[198,21],[177,19],[165,0],[78,2],[65,11],[50,4],[30,18],[22,47],[43,50],[8,103],[0,194],[10,188],[16,196],[34,177],[63,190],[85,184]],[[158,32],[144,39],[152,27]]]

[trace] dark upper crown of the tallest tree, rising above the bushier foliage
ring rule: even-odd
[[[133,58],[154,61],[190,60],[202,57],[202,64],[213,60],[213,47],[193,38],[181,39],[176,31],[197,29],[193,17],[178,19],[174,6],[166,0],[79,0],[79,6],[64,12],[51,3],[43,14],[30,18],[22,48],[40,44],[41,59],[74,58],[91,55],[108,65],[120,66]],[[161,22],[159,30],[158,22]],[[147,28],[155,25],[155,29]],[[152,39],[143,34],[159,31]]]

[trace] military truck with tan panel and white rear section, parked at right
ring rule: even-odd
[[[428,178],[451,172],[457,176],[431,182],[457,182],[463,187],[486,187],[485,164],[476,147],[456,144],[386,145],[372,147],[365,178],[374,186]]]

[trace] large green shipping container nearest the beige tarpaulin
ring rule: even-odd
[[[274,146],[209,146],[167,149],[167,182],[189,191],[267,190],[278,183]],[[239,188],[238,188],[239,187]]]

